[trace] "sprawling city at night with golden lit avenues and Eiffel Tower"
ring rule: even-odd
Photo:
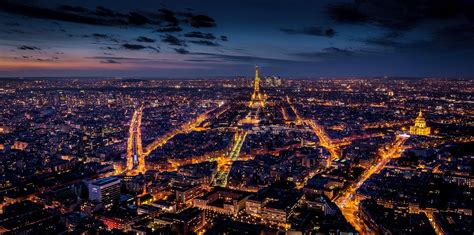
[[[1,233],[472,232],[471,80],[262,72],[7,81]]]

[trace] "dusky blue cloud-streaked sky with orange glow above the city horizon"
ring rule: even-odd
[[[0,0],[0,76],[474,77],[474,1]]]

